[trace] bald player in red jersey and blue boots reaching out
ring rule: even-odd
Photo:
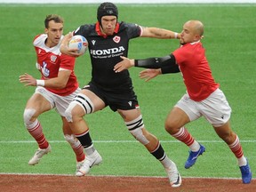
[[[149,79],[165,73],[181,72],[187,93],[172,108],[165,121],[165,130],[174,138],[185,143],[190,148],[185,168],[196,163],[198,156],[205,148],[198,143],[185,128],[185,125],[204,116],[212,124],[215,132],[224,140],[238,160],[242,180],[250,183],[252,172],[243,148],[235,132],[231,130],[229,119],[231,108],[219,84],[215,83],[212,71],[206,60],[201,38],[204,34],[204,25],[199,20],[189,20],[183,26],[180,37],[180,48],[163,58],[149,58],[146,60],[129,60],[116,64],[116,73],[132,66],[146,69],[140,72],[141,78]]]

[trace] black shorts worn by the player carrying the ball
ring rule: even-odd
[[[84,86],[83,89],[87,89],[95,93],[105,102],[106,106],[109,106],[113,111],[116,111],[117,109],[131,110],[139,108],[137,96],[135,95],[135,92],[133,92],[132,88],[128,90],[111,90],[104,89],[92,82],[88,85]]]

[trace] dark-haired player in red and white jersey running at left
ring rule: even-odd
[[[76,59],[60,52],[63,19],[59,15],[48,15],[44,20],[44,27],[44,34],[36,36],[33,41],[37,57],[36,68],[41,73],[41,79],[37,80],[27,73],[20,76],[20,83],[37,86],[24,110],[24,123],[39,147],[28,164],[38,164],[45,154],[51,152],[51,146],[44,137],[43,127],[37,117],[55,108],[62,119],[64,138],[76,154],[76,170],[79,170],[85,158],[84,148],[65,118],[68,104],[81,90],[74,74]]]

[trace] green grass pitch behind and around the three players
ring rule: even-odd
[[[204,22],[204,47],[215,80],[225,92],[233,109],[231,124],[238,134],[252,172],[256,171],[255,129],[255,4],[117,4],[118,20],[141,26],[167,28],[180,32],[187,20]],[[34,36],[44,32],[44,18],[57,13],[65,19],[64,33],[84,23],[96,21],[98,4],[0,4],[0,172],[73,174],[76,160],[63,139],[60,116],[55,111],[39,117],[52,153],[40,164],[28,166],[36,143],[23,124],[23,109],[35,87],[24,87],[19,76],[25,72],[39,77]],[[130,58],[164,56],[179,46],[178,40],[134,39]],[[188,124],[188,130],[206,147],[195,166],[185,170],[188,148],[164,131],[164,119],[185,92],[180,74],[158,76],[145,83],[140,68],[131,68],[135,92],[140,101],[144,123],[178,165],[183,177],[240,178],[236,158],[218,138],[204,118]],[[88,53],[76,61],[81,86],[91,78]],[[92,175],[165,176],[164,168],[127,132],[121,117],[106,108],[85,117],[91,127],[94,146],[103,156],[103,164]]]

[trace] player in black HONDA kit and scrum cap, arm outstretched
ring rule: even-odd
[[[85,24],[65,36],[60,51],[78,57],[76,49],[68,48],[71,36],[82,35],[89,44],[92,61],[92,80],[85,85],[73,100],[66,115],[76,138],[84,146],[86,154],[77,176],[90,172],[93,165],[102,162],[98,151],[93,147],[89,128],[84,116],[109,106],[123,117],[132,136],[140,141],[148,151],[163,164],[172,187],[179,187],[181,177],[176,164],[166,156],[160,141],[148,132],[143,124],[140,107],[129,71],[115,73],[114,66],[120,62],[120,56],[127,56],[129,41],[136,37],[180,38],[180,34],[162,28],[143,28],[136,24],[117,22],[118,10],[115,4],[100,4],[96,24]]]

